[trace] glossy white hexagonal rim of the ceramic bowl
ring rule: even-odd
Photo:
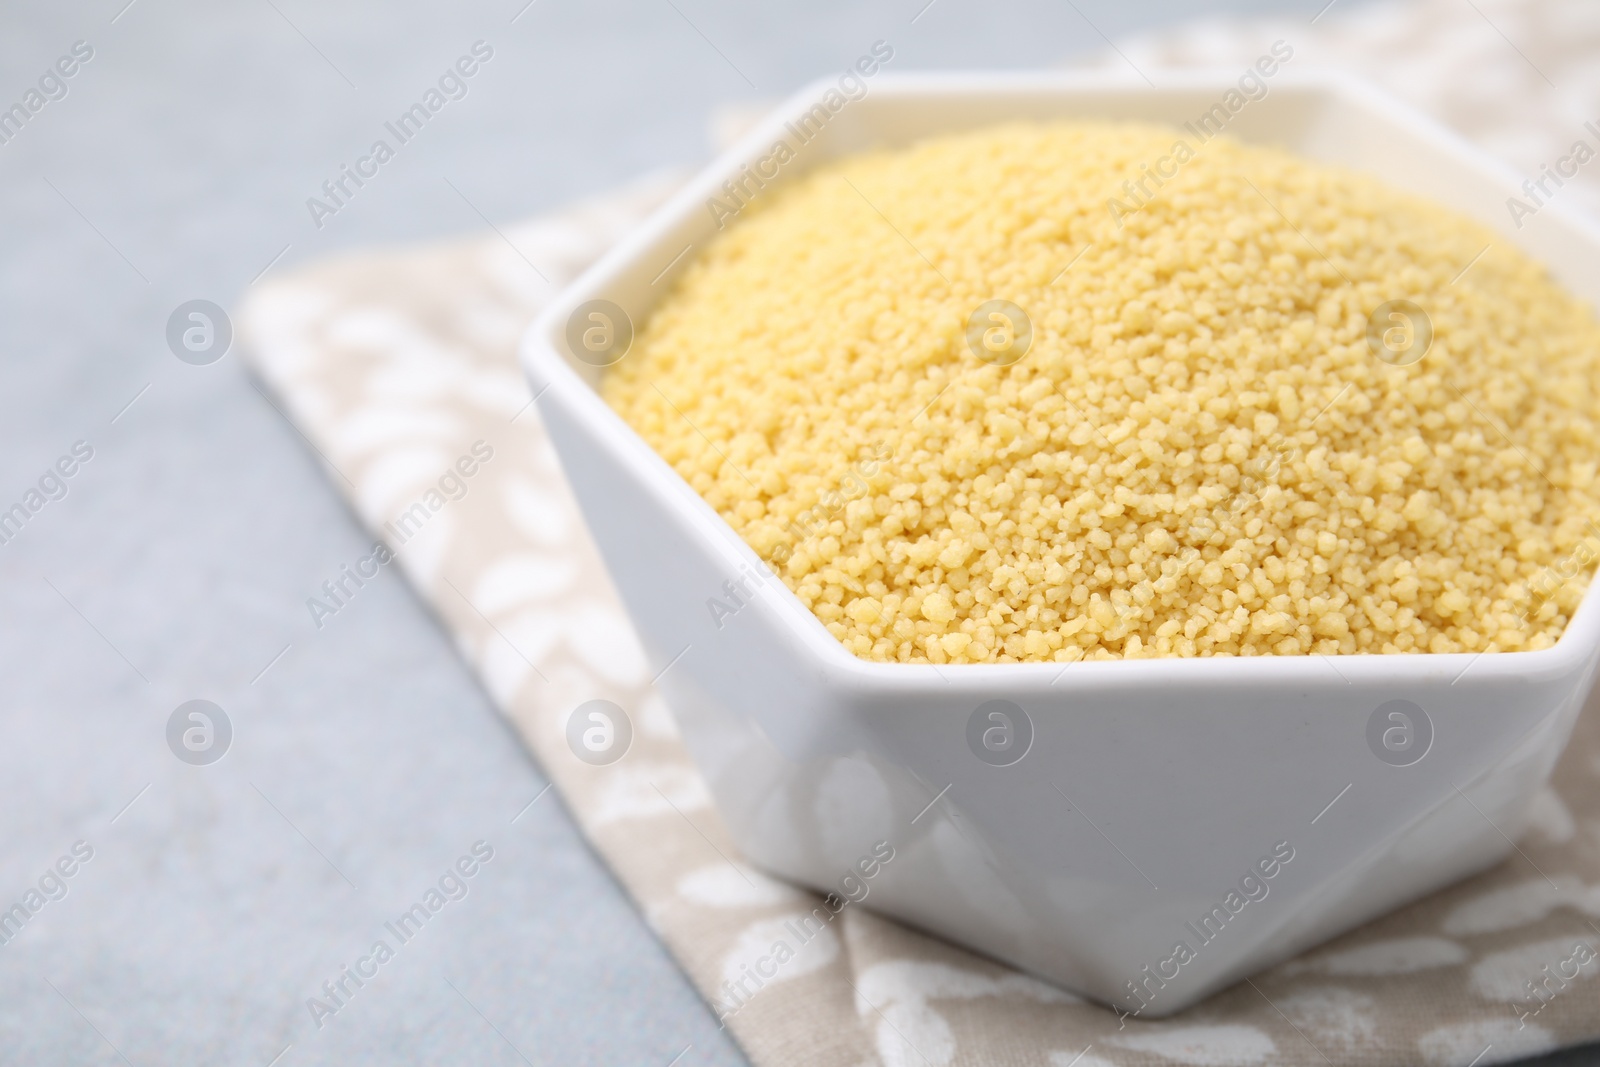
[[[835,638],[822,621],[778,579],[771,566],[722,518],[720,514],[683,480],[683,477],[651,448],[622,418],[611,410],[597,389],[590,387],[562,355],[562,334],[573,309],[611,288],[621,275],[630,274],[637,261],[656,251],[672,230],[688,222],[690,216],[704,208],[707,197],[722,189],[722,182],[739,173],[741,165],[755,158],[782,131],[784,122],[816,104],[818,98],[834,88],[837,75],[813,80],[773,107],[747,133],[728,149],[717,154],[672,197],[635,226],[621,242],[611,246],[578,278],[562,288],[546,309],[523,331],[518,344],[520,363],[533,386],[533,402],[541,408],[560,403],[574,421],[587,426],[594,443],[602,446],[613,461],[627,469],[645,493],[675,515],[686,528],[714,547],[723,558],[728,574],[742,566],[766,571],[774,581],[763,582],[762,600],[774,609],[787,635],[803,646],[830,681],[866,691],[902,691],[936,686],[950,694],[992,696],[997,689],[1026,693],[1043,689],[1066,694],[1074,689],[1120,685],[1130,680],[1141,686],[1194,686],[1198,683],[1226,685],[1307,685],[1320,677],[1323,685],[1357,683],[1410,683],[1451,686],[1467,672],[1474,672],[1474,685],[1490,681],[1528,683],[1565,677],[1600,653],[1600,593],[1590,571],[1589,589],[1584,590],[1578,609],[1568,619],[1560,638],[1538,651],[1506,653],[1352,653],[1328,656],[1306,653],[1299,656],[1154,656],[1149,659],[1078,659],[1074,662],[1024,661],[1008,664],[904,664],[861,659]],[[1117,91],[1141,96],[1163,96],[1197,90],[1224,91],[1238,80],[1232,67],[1195,67],[1163,72],[1155,85],[1149,85],[1128,72],[1101,70],[1024,70],[1024,72],[880,72],[862,99],[882,98],[936,98],[950,94],[1074,94],[1093,91]],[[1344,70],[1325,67],[1301,67],[1280,70],[1274,83],[1283,88],[1320,93],[1333,101],[1341,98],[1384,112],[1386,120],[1406,128],[1411,134],[1430,141],[1435,147],[1456,157],[1456,162],[1485,173],[1506,189],[1517,189],[1520,176],[1510,166],[1494,160],[1461,134],[1445,128],[1411,106],[1395,99],[1371,83]],[[808,166],[792,168],[784,181],[805,173]],[[1576,214],[1566,203],[1549,203],[1541,208],[1555,226],[1576,230],[1576,237],[1600,246],[1600,226]],[[667,250],[669,251],[669,250]],[[688,251],[688,250],[685,250]],[[658,256],[667,274],[677,264],[670,254]],[[683,253],[677,253],[682,259]],[[670,259],[670,262],[667,262]],[[658,275],[659,280],[659,275]],[[666,294],[669,290],[662,290]],[[1576,577],[1576,576],[1574,576]],[[1568,579],[1573,581],[1573,579]],[[1318,664],[1315,661],[1325,661]],[[1478,661],[1486,661],[1478,664]],[[1334,665],[1336,664],[1336,665]],[[1072,669],[1070,672],[1067,669]],[[1330,673],[1331,667],[1331,673]],[[1133,675],[1131,678],[1128,675]],[[1334,677],[1336,675],[1336,677]],[[1064,685],[1056,685],[1064,681]]]

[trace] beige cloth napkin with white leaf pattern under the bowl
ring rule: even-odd
[[[1600,115],[1600,5],[1416,0],[1122,42],[1106,66],[1296,64],[1387,85],[1530,176]],[[1403,166],[1403,160],[1397,160]],[[1595,168],[1600,173],[1600,166]],[[690,977],[723,982],[819,901],[744,862],[674,728],[514,360],[520,331],[677,184],[656,178],[448,245],[350,256],[259,286],[254,370],[333,469]],[[1560,192],[1600,206],[1592,176]],[[470,472],[470,474],[469,474]],[[379,555],[382,558],[382,555]],[[307,605],[328,625],[338,597]],[[616,763],[574,757],[581,702],[627,710]],[[1600,712],[1578,723],[1498,869],[1171,1019],[1118,1019],[845,909],[726,1016],[758,1065],[1493,1064],[1600,1038]]]

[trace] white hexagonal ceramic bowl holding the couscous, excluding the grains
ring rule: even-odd
[[[877,74],[774,181],[1006,118],[1181,125],[1237,78]],[[523,342],[578,501],[648,653],[670,664],[659,685],[744,854],[829,891],[888,841],[896,857],[866,907],[1144,1017],[1504,857],[1589,693],[1594,592],[1555,648],[1478,657],[875,664],[771,576],[718,625],[707,601],[728,605],[725,582],[762,565],[598,398],[602,371],[571,358],[568,320],[603,298],[642,322],[715,234],[707,200],[794,142],[786,123],[814,117],[835,85],[798,93],[722,155]],[[1376,171],[1600,296],[1600,235],[1558,206],[1515,229],[1520,179],[1456,136],[1346,78],[1283,69],[1269,85],[1229,133]],[[1006,718],[981,710],[994,701]]]

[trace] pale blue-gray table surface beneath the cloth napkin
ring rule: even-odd
[[[1202,10],[1322,6],[925,2],[0,14],[0,101],[94,50],[0,146],[0,507],[94,448],[0,545],[0,909],[94,849],[0,945],[0,1062],[742,1062],[560,801],[512,822],[544,777],[397,576],[307,638],[306,597],[366,537],[237,354],[181,363],[163,328],[187,299],[237,307],[285,246],[274,270],[478,230],[446,176],[504,222],[694,165],[714,106],[875,38],[898,69],[1027,67]],[[312,227],[306,197],[478,38],[470,94]],[[194,697],[234,723],[211,766],[168,750]],[[478,840],[469,896],[318,1029],[306,1000]]]

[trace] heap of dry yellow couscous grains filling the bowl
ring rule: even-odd
[[[605,397],[866,659],[1554,643],[1600,539],[1590,310],[1373,178],[1176,138],[1019,123],[763,192]]]

